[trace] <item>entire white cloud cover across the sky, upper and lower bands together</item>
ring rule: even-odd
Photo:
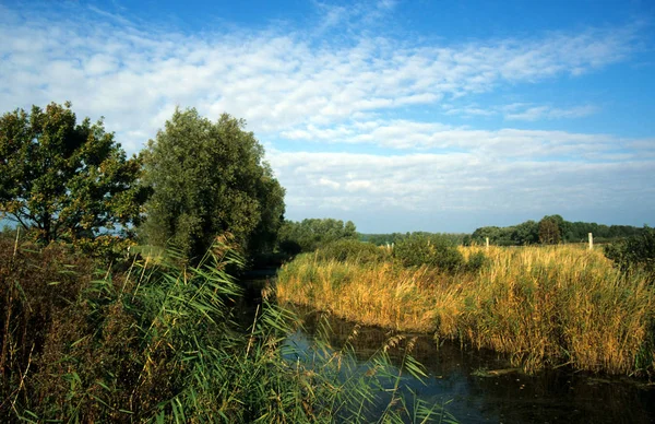
[[[504,86],[584,78],[627,60],[636,48],[634,27],[441,44],[356,31],[394,7],[317,3],[322,23],[314,28],[188,34],[97,8],[70,5],[73,19],[0,5],[0,108],[70,99],[81,116],[104,116],[130,152],[155,136],[176,105],[211,118],[228,111],[246,118],[267,145],[295,219],[302,216],[294,211],[310,205],[325,213],[537,211],[600,205],[610,197],[630,202],[634,190],[651,190],[644,181],[655,176],[652,139],[446,120],[590,116],[598,108],[584,102],[452,104]],[[340,25],[347,40],[318,42]],[[439,115],[409,116],[421,109]]]

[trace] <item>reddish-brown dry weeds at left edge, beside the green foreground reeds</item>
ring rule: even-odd
[[[88,285],[92,270],[91,260],[61,245],[38,250],[34,244],[14,246],[11,237],[0,238],[2,399],[11,398],[15,403],[26,393],[38,394],[24,376],[27,370],[31,375],[38,372],[35,365],[41,363],[50,339],[66,337],[57,322],[76,318],[72,305]],[[21,387],[23,392],[16,390]],[[9,403],[0,407],[3,422],[15,420]]]

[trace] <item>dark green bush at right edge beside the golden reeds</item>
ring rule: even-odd
[[[639,235],[606,246],[605,256],[623,271],[641,268],[655,273],[655,229],[644,227]]]

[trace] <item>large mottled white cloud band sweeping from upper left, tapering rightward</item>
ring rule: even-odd
[[[356,13],[392,7],[380,2]],[[503,82],[586,72],[626,57],[633,38],[629,30],[588,30],[527,42],[425,46],[359,35],[348,44],[315,47],[299,34],[271,31],[202,36],[148,32],[120,16],[104,22],[107,16],[99,12],[75,20],[4,14],[0,107],[71,99],[83,115],[106,116],[107,127],[124,137],[138,130],[154,134],[164,123],[163,111],[189,105],[212,117],[227,110],[245,117],[254,131],[275,133],[299,125],[338,123],[358,114],[434,105]],[[513,118],[586,113],[590,108],[551,108]],[[142,143],[126,140],[133,150]]]

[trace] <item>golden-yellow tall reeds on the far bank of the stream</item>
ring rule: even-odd
[[[602,252],[572,246],[460,249],[488,260],[476,272],[444,273],[300,256],[278,273],[277,296],[367,325],[458,338],[508,353],[527,372],[653,372],[647,274],[627,275]]]

